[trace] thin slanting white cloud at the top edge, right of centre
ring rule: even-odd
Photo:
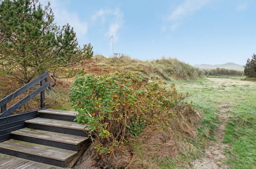
[[[182,4],[176,7],[164,20],[171,22],[170,29],[175,30],[181,25],[181,22],[186,17],[199,11],[210,0],[185,0]]]

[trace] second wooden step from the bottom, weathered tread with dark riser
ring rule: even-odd
[[[61,149],[79,151],[89,143],[88,137],[24,128],[11,132],[12,138],[37,144],[49,145]]]

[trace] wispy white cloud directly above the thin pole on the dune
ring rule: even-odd
[[[119,38],[118,31],[124,25],[124,16],[119,8],[101,9],[92,15],[91,19],[93,22],[101,21],[102,26],[107,28],[105,34],[107,37],[113,35],[115,41]]]

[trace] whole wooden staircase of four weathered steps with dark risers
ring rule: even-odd
[[[90,143],[85,132],[88,126],[73,122],[76,114],[53,109],[38,111],[38,117],[25,121],[25,128],[12,131],[11,139],[0,143],[0,153],[14,159],[72,167]]]

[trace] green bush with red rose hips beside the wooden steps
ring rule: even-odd
[[[187,94],[150,82],[135,74],[77,77],[71,101],[78,123],[90,126],[89,134],[99,155],[114,153],[136,138],[145,126],[168,130],[171,118],[186,103]],[[147,128],[148,129],[148,128]]]

